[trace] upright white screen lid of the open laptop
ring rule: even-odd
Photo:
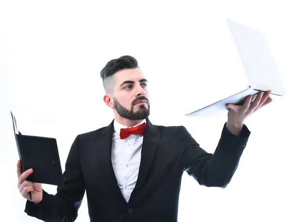
[[[263,33],[226,18],[242,65],[252,88],[272,89],[272,94],[285,95],[283,83]]]

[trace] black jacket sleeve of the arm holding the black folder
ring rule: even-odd
[[[73,222],[78,216],[85,193],[85,185],[79,160],[79,135],[69,151],[64,172],[64,187],[57,187],[55,195],[43,190],[43,199],[35,205],[26,202],[24,212],[45,222]]]

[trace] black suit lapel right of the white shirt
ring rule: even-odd
[[[159,139],[160,132],[151,124],[149,119],[146,118],[146,130],[144,132],[141,163],[134,191],[138,190],[145,182],[147,173],[154,159]]]

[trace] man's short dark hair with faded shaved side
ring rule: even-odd
[[[137,60],[132,56],[121,56],[118,59],[112,59],[101,70],[103,87],[106,93],[113,93],[113,74],[123,69],[135,69],[138,67]]]

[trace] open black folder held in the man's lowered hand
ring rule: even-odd
[[[64,186],[64,178],[55,138],[23,135],[17,130],[16,118],[11,112],[13,129],[22,172],[32,168],[27,180]]]

